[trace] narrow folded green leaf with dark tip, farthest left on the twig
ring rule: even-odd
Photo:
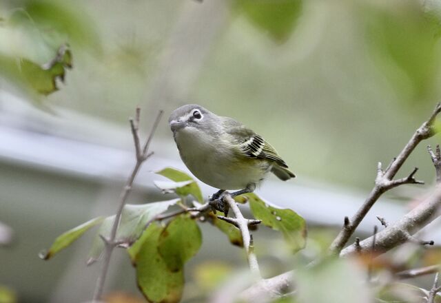
[[[68,247],[76,239],[83,236],[83,233],[94,227],[96,224],[100,224],[101,222],[103,222],[103,220],[103,217],[94,218],[88,222],[79,225],[78,227],[75,227],[74,229],[66,231],[65,233],[61,234],[61,236],[59,236],[57,239],[55,239],[54,243],[48,251],[42,251],[41,253],[39,253],[39,257],[43,260],[48,260],[52,258],[55,253],[58,253],[59,251],[61,251],[61,249],[65,249],[66,247]]]

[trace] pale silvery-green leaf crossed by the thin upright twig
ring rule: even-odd
[[[121,213],[121,222],[119,223],[118,231],[116,231],[116,241],[125,242],[127,245],[132,244],[143,233],[145,226],[160,213],[167,211],[167,209],[175,205],[179,199],[172,199],[161,202],[152,202],[142,205],[127,204]],[[99,235],[108,238],[115,216],[110,216],[105,219],[103,224],[96,234],[92,249],[89,253],[88,264],[92,264],[98,260],[103,253],[104,242]]]

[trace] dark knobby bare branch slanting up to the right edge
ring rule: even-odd
[[[345,227],[340,230],[340,233],[338,233],[338,236],[336,237],[334,242],[332,242],[331,246],[329,247],[329,251],[331,251],[331,253],[340,253],[343,247],[345,247],[345,244],[347,243],[349,238],[352,236],[353,232],[358,227],[358,224],[360,224],[363,218],[365,218],[373,204],[385,191],[388,191],[389,189],[392,189],[393,187],[397,187],[402,184],[421,183],[421,181],[415,180],[415,178],[413,178],[413,175],[416,173],[416,169],[414,169],[411,174],[407,176],[407,178],[393,180],[393,177],[395,177],[398,169],[402,167],[404,161],[407,160],[407,158],[412,153],[413,149],[415,149],[415,147],[418,145],[418,143],[420,143],[424,139],[430,138],[435,134],[435,129],[433,129],[432,126],[433,122],[435,121],[435,117],[440,112],[441,103],[438,103],[433,110],[431,116],[429,116],[429,119],[426,122],[422,123],[422,125],[416,130],[407,145],[404,146],[404,149],[402,149],[400,154],[391,161],[385,171],[382,170],[381,163],[378,163],[375,186],[371,190],[371,193],[362,204],[360,209],[358,209],[355,215],[353,215],[353,217],[351,218],[350,224],[348,224],[347,226],[345,225]]]

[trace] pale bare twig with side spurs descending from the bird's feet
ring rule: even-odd
[[[240,234],[242,235],[242,240],[243,240],[243,247],[245,248],[245,252],[247,253],[249,269],[251,269],[254,277],[260,279],[261,275],[260,275],[256,254],[254,253],[254,249],[253,249],[253,240],[248,229],[249,225],[258,224],[260,223],[260,220],[245,219],[242,213],[240,212],[239,207],[236,205],[236,201],[234,201],[232,196],[230,196],[229,194],[225,194],[223,196],[223,201],[227,203],[229,209],[232,209],[234,213],[234,217],[236,218],[228,218],[229,220],[225,220],[225,217],[221,217],[221,216],[218,216],[218,218],[221,217],[220,218],[221,220],[225,220],[231,224],[234,224],[234,226],[236,226],[240,230]]]

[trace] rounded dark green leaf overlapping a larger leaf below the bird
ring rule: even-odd
[[[182,215],[168,222],[159,236],[158,251],[170,271],[180,271],[201,248],[201,229],[192,218]]]

